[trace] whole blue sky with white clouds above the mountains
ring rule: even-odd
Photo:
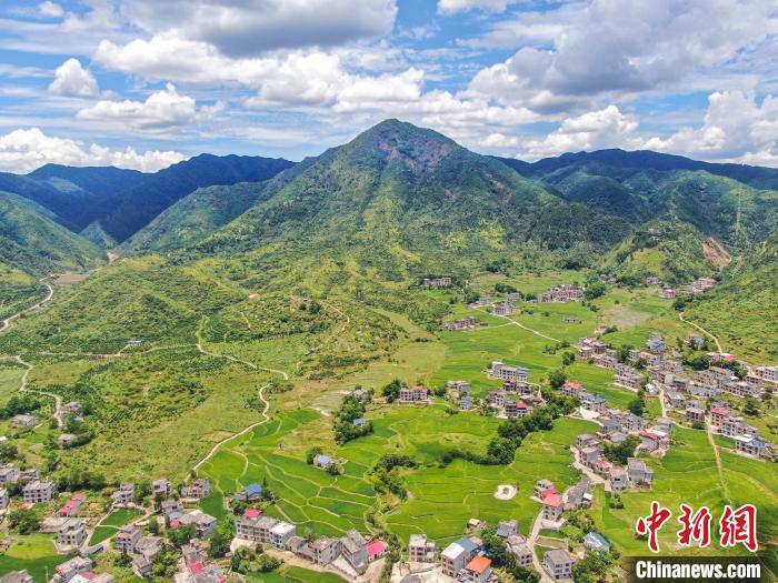
[[[387,118],[778,168],[777,63],[776,0],[3,0],[0,170],[300,160]]]

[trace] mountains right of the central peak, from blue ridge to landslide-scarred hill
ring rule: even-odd
[[[535,163],[500,160],[567,201],[628,222],[636,233],[614,250],[605,268],[630,281],[659,271],[668,281],[679,282],[706,265],[712,273],[730,253],[745,252],[778,229],[774,169],[622,150],[570,153]],[[646,225],[656,221],[666,227],[661,234],[642,237]],[[614,261],[625,257],[629,264]]]

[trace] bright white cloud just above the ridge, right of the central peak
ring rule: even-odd
[[[563,120],[559,128],[542,140],[526,141],[521,157],[536,160],[580,150],[635,147],[638,143],[635,137],[638,125],[636,117],[622,113],[616,105],[608,105]]]

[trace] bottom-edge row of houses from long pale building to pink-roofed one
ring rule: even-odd
[[[296,525],[265,516],[258,509],[246,510],[236,522],[233,546],[251,543],[293,553],[319,566],[331,565],[349,576],[363,574],[370,563],[388,552],[383,541],[368,540],[356,530],[339,539],[320,536],[309,541],[298,535]]]

